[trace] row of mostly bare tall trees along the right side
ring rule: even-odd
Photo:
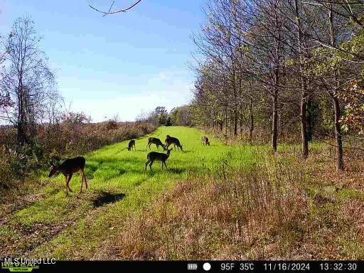
[[[209,1],[193,37],[199,124],[250,140],[263,131],[274,151],[299,136],[304,158],[312,138],[329,137],[343,170],[343,139],[360,134],[350,121],[363,101],[363,11],[361,1]]]

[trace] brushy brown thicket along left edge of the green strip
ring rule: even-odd
[[[48,167],[61,158],[85,154],[105,145],[137,139],[154,129],[150,124],[134,122],[64,122],[39,127],[33,144],[15,149],[16,131],[11,127],[0,127],[0,191],[16,185],[36,168]]]

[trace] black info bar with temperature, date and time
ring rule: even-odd
[[[363,272],[363,261],[57,261],[2,259],[0,272]]]

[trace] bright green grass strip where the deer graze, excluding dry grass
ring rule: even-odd
[[[166,134],[180,139],[183,152],[171,151],[168,171],[156,161],[153,171],[148,168],[144,173],[147,138],[159,137],[164,142]],[[0,256],[99,259],[100,245],[116,240],[124,219],[146,208],[176,181],[208,172],[225,159],[238,166],[252,157],[252,149],[225,146],[211,138],[211,146],[203,146],[203,135],[193,128],[160,127],[137,139],[136,151],[127,151],[128,141],[123,141],[85,155],[88,190],[78,193],[81,178],[75,175],[70,183],[73,193],[66,198],[64,178],[50,179],[39,188],[35,203],[0,225]],[[155,145],[152,150],[156,151]]]

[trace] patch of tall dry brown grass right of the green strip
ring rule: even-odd
[[[309,198],[299,161],[271,157],[252,168],[222,164],[176,184],[126,220],[119,259],[289,257],[307,238]]]

